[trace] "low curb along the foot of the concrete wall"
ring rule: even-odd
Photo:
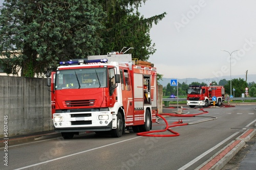
[[[8,145],[15,145],[15,144],[20,144],[20,143],[25,143],[25,142],[30,142],[30,141],[35,141],[35,140],[40,140],[40,139],[47,139],[47,138],[52,138],[52,137],[60,137],[60,133],[56,132],[45,132],[37,135],[28,135],[24,137],[16,137],[16,138],[1,138],[0,139],[0,147],[5,147],[5,145],[8,143]]]

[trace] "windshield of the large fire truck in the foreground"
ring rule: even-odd
[[[106,68],[58,70],[55,89],[106,87]]]

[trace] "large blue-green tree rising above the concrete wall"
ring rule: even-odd
[[[7,74],[34,77],[60,60],[99,54],[97,31],[104,12],[88,0],[18,1],[3,4],[0,16],[0,64]]]

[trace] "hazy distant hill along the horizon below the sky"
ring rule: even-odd
[[[238,76],[232,76],[232,79],[244,79],[245,75],[238,75]],[[163,78],[163,80],[159,81],[159,84],[163,85],[165,87],[168,83],[170,83],[171,79],[177,79],[177,78]],[[219,83],[220,80],[226,79],[227,81],[230,80],[230,76],[222,76],[218,78],[208,78],[208,79],[197,79],[197,78],[187,78],[187,79],[177,79],[179,83],[185,82],[187,85],[191,84],[192,82],[199,82],[199,83],[206,83],[209,84],[209,82],[216,81]],[[247,83],[255,82],[256,83],[256,75],[247,75]]]

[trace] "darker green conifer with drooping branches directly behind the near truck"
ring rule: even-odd
[[[105,30],[101,32],[104,41],[101,54],[111,51],[120,52],[124,46],[134,47],[134,50],[129,53],[139,60],[147,60],[150,55],[155,53],[155,43],[152,44],[150,30],[153,23],[157,25],[166,13],[150,18],[140,16],[138,7],[145,2],[145,0],[100,1],[108,16],[104,23]]]

